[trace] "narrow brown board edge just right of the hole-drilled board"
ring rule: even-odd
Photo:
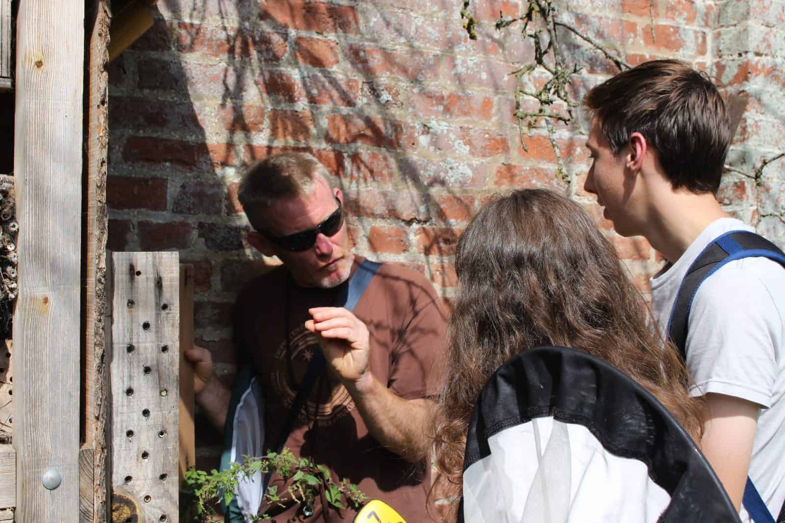
[[[185,471],[196,465],[194,434],[194,374],[185,361],[185,351],[194,343],[194,266],[180,266],[180,467],[182,483]]]

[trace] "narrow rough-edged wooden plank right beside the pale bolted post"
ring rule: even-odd
[[[84,394],[84,437],[85,447],[94,451],[93,471],[83,470],[93,481],[90,490],[93,514],[84,523],[98,523],[109,517],[107,416],[109,369],[105,365],[107,340],[104,335],[104,318],[109,311],[106,293],[106,243],[108,237],[108,213],[106,204],[106,180],[108,157],[108,40],[111,11],[109,0],[91,0],[86,20],[89,31],[89,64],[87,93],[87,183],[84,192],[82,213],[86,231],[85,285],[85,329],[83,350],[83,394]],[[85,485],[80,478],[80,485]],[[80,507],[82,495],[80,490]],[[86,501],[85,501],[86,503]],[[82,512],[82,518],[86,514]]]

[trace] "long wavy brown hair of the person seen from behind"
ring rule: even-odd
[[[461,492],[466,431],[488,378],[520,350],[541,345],[574,347],[615,365],[699,441],[702,403],[687,393],[684,363],[672,345],[663,350],[643,296],[578,204],[544,189],[498,198],[462,234],[455,269],[432,498]]]

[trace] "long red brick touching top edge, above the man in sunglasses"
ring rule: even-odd
[[[261,19],[276,26],[290,27],[317,33],[342,33],[356,35],[360,19],[350,5],[331,5],[305,0],[267,0],[261,6]]]

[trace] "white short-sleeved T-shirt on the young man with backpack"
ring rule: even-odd
[[[715,238],[751,231],[721,218],[707,227],[676,263],[651,279],[652,314],[663,338],[681,280]],[[761,405],[750,478],[774,518],[785,500],[785,269],[765,258],[727,263],[696,292],[688,320],[687,367],[692,396],[709,392]],[[742,521],[750,521],[747,510]]]

